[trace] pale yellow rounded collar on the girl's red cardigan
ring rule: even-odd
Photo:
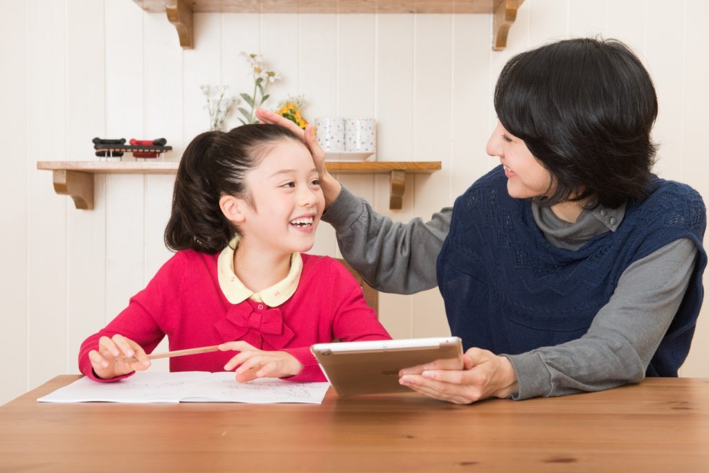
[[[239,245],[239,237],[233,240],[222,250],[217,260],[217,276],[219,287],[231,304],[240,304],[246,299],[263,302],[269,307],[277,307],[291,298],[298,289],[298,282],[303,271],[303,259],[300,253],[291,254],[291,270],[286,279],[259,292],[247,288],[234,272],[234,252]]]

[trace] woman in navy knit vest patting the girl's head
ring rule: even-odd
[[[342,255],[380,291],[439,286],[467,348],[462,369],[439,360],[401,384],[463,404],[676,376],[703,299],[706,213],[651,172],[647,70],[616,40],[563,40],[510,59],[494,102],[487,152],[501,165],[428,223],[374,213],[306,133]]]

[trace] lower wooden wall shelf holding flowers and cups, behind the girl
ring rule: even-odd
[[[37,169],[52,171],[57,194],[72,196],[74,206],[94,208],[92,174],[175,174],[177,161],[38,161]],[[440,161],[328,161],[330,172],[345,174],[389,174],[389,208],[399,209],[407,173],[430,174],[441,168]]]

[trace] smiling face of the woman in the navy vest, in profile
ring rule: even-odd
[[[499,121],[488,140],[486,151],[491,156],[499,157],[505,167],[510,196],[526,199],[549,196],[554,191],[549,171],[537,161],[524,141],[510,134]]]

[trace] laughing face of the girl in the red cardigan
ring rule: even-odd
[[[313,247],[325,197],[313,157],[304,145],[293,140],[277,143],[248,172],[246,187],[253,205],[242,206],[240,245],[283,255]]]

